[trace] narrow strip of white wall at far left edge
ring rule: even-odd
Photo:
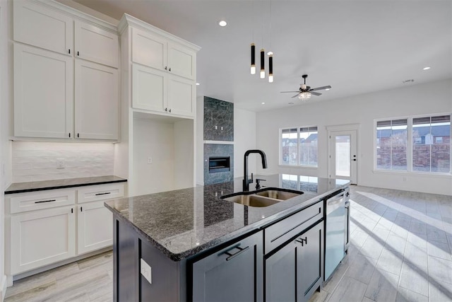
[[[11,184],[11,72],[10,49],[8,47],[8,1],[0,0],[0,301],[6,294],[6,275],[4,269],[4,190]]]

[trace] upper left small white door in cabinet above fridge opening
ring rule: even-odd
[[[167,41],[158,35],[132,28],[132,62],[165,70]]]

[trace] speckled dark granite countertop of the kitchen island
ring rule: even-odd
[[[301,190],[292,199],[270,207],[247,207],[220,196],[242,192],[242,178],[232,182],[136,197],[110,199],[105,206],[132,226],[171,260],[179,261],[215,245],[255,231],[288,216],[350,184],[349,180],[302,175],[259,175],[262,185]],[[250,191],[255,184],[250,184]]]

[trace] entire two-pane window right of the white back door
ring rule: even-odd
[[[451,173],[451,115],[377,121],[376,169]]]

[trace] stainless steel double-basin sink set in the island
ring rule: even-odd
[[[220,197],[228,202],[236,202],[249,207],[268,207],[303,194],[301,191],[269,187],[255,192],[240,192]]]

